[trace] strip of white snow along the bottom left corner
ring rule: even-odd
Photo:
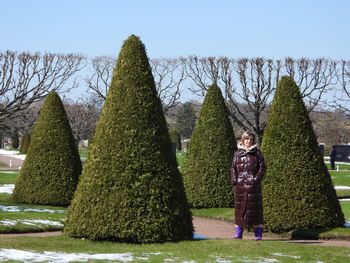
[[[118,260],[121,262],[132,262],[135,260],[149,260],[150,255],[160,255],[160,253],[142,253],[137,256],[133,253],[110,253],[110,254],[87,254],[87,253],[65,253],[65,252],[34,252],[18,249],[0,249],[0,261],[17,260],[21,262],[77,262],[88,260]]]

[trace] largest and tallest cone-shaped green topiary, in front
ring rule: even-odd
[[[192,238],[182,178],[143,43],[123,44],[65,232],[149,243]]]

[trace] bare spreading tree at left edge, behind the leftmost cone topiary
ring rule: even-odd
[[[69,87],[66,84],[83,62],[78,54],[0,52],[0,124],[18,117],[51,90],[66,92],[76,87],[74,80]]]

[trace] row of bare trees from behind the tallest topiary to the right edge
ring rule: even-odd
[[[217,83],[223,91],[234,123],[243,130],[254,131],[259,140],[281,76],[289,75],[295,79],[310,112],[320,105],[336,105],[337,101],[327,101],[326,95],[333,89],[346,87],[339,83],[345,83],[343,78],[349,79],[349,62],[325,58],[288,57],[274,60],[188,56],[151,59],[150,63],[165,111],[179,103],[184,90],[205,96],[207,88],[212,83]],[[92,64],[96,74],[85,78],[85,81],[90,91],[104,99],[114,60],[97,57],[92,60]],[[103,85],[97,85],[98,83]],[[345,91],[346,89],[343,92]],[[349,93],[346,99],[350,100]]]

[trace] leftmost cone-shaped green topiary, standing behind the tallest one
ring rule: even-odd
[[[13,199],[18,203],[68,206],[81,169],[61,99],[50,92],[36,121]]]

